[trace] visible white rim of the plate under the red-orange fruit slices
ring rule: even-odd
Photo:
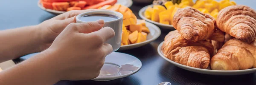
[[[127,7],[130,8],[133,5],[133,1],[132,0],[127,0],[127,1],[128,1]],[[40,3],[40,0],[38,0],[38,7],[43,9],[44,11],[48,11],[48,12],[55,13],[55,14],[63,14],[65,12],[67,12],[67,11],[58,11],[58,10],[52,10],[52,9],[44,8],[42,6],[42,4]]]

